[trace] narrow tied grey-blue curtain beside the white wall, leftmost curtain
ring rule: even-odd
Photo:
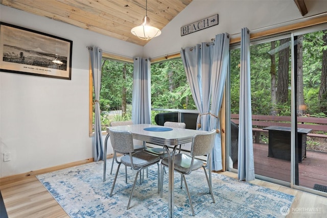
[[[91,61],[92,80],[95,92],[95,131],[92,141],[94,161],[103,160],[103,140],[101,131],[100,118],[100,89],[101,89],[101,67],[102,67],[102,50],[98,47],[89,47],[89,56]]]

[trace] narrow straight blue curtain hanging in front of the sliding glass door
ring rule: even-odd
[[[250,181],[254,180],[254,160],[250,83],[250,34],[247,28],[243,28],[241,31],[239,113],[238,179]]]

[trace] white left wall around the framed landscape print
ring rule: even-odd
[[[0,72],[0,177],[91,158],[86,46],[127,57],[142,56],[143,47],[4,5],[0,15],[73,41],[72,80]],[[11,161],[3,162],[5,152]]]

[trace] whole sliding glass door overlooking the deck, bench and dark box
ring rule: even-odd
[[[327,25],[250,44],[256,178],[326,196]],[[238,168],[240,47],[230,47],[228,167]],[[242,98],[242,96],[241,96]]]

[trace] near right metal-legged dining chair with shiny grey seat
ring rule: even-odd
[[[206,169],[205,169],[207,167],[208,163],[211,161],[210,155],[211,155],[211,152],[214,147],[215,137],[216,137],[216,130],[213,130],[213,131],[207,132],[207,133],[197,133],[193,136],[193,139],[192,139],[191,156],[187,155],[187,154],[176,154],[174,157],[175,158],[175,160],[174,160],[175,168],[174,169],[176,172],[178,172],[182,175],[182,178],[184,180],[186,191],[188,192],[192,215],[194,215],[194,209],[193,209],[193,205],[192,205],[192,201],[191,201],[188,184],[186,183],[186,180],[185,180],[185,175],[189,175],[193,171],[196,171],[197,169],[202,167],[204,169],[205,178],[206,178],[206,181],[209,186],[211,198],[213,199],[213,203],[215,203],[212,186],[211,186],[211,183],[209,182],[208,175],[207,175]],[[202,155],[207,155],[207,162],[205,165],[203,163],[203,160],[196,158],[196,156],[202,156]],[[168,167],[168,164],[169,164],[168,158],[162,159],[161,164],[164,167],[165,166]],[[164,173],[161,170],[160,197],[162,197],[162,186],[164,185],[163,178],[164,178]],[[196,178],[196,179],[199,179],[199,178]],[[199,183],[199,184],[201,184],[201,183]]]

